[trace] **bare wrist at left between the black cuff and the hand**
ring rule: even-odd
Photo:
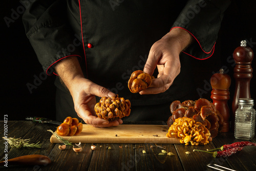
[[[59,61],[55,65],[55,70],[69,90],[71,90],[75,79],[84,78],[76,56],[70,56],[69,58]]]

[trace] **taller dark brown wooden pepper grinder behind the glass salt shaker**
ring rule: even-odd
[[[236,87],[232,102],[232,128],[234,128],[234,116],[238,108],[238,99],[251,98],[250,80],[252,78],[251,61],[253,59],[253,51],[246,46],[246,41],[241,41],[241,46],[234,49],[233,58],[236,62],[233,74]]]

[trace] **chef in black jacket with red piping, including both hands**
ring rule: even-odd
[[[227,0],[50,1],[30,4],[23,15],[26,34],[47,74],[57,75],[56,119],[83,119],[95,127],[122,120],[97,118],[101,97],[129,99],[127,121],[165,120],[174,100],[195,92],[191,58],[214,53]],[[192,57],[191,57],[192,56]],[[153,74],[150,88],[130,92],[135,70]],[[190,79],[190,80],[189,80]]]

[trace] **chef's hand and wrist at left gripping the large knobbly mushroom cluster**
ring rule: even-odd
[[[71,93],[78,117],[83,119],[84,122],[94,127],[111,127],[122,124],[121,119],[108,121],[96,116],[94,111],[95,96],[113,97],[116,94],[85,79],[75,56],[59,62],[55,69]]]

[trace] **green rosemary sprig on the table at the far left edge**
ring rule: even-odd
[[[29,143],[30,139],[23,140],[23,139],[15,138],[15,137],[14,138],[3,137],[3,139],[7,140],[7,142],[10,144],[10,146],[12,148],[22,148],[22,147],[41,148],[41,145],[42,145],[42,144],[39,144],[40,141],[37,142],[36,144],[35,143],[30,144]]]

